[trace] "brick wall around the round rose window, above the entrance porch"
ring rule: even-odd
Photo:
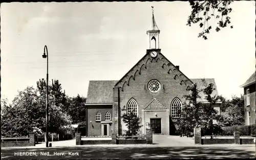
[[[146,56],[145,59],[150,56]],[[161,58],[161,57],[160,57]],[[170,103],[175,97],[178,97],[182,102],[184,102],[183,95],[187,94],[185,84],[180,84],[181,79],[185,79],[184,76],[180,78],[174,79],[175,75],[181,75],[179,71],[172,71],[168,74],[168,68],[172,68],[174,70],[174,66],[171,64],[167,67],[167,65],[162,68],[162,65],[167,63],[166,61],[162,61],[158,59],[158,61],[153,60],[152,62],[149,60],[146,63],[146,68],[142,66],[141,74],[135,74],[134,79],[131,78],[129,81],[129,86],[126,84],[123,85],[123,91],[120,89],[120,108],[127,105],[127,102],[134,98],[138,103],[138,113],[141,118],[141,110],[146,107],[148,103],[152,101],[153,98],[158,99],[164,106],[169,109],[170,112]],[[142,64],[141,64],[142,65]],[[140,65],[140,66],[141,66]],[[140,69],[140,67],[138,67]],[[129,75],[131,76],[131,75]],[[128,76],[128,77],[129,77]],[[152,93],[147,87],[147,84],[150,80],[157,79],[161,84],[161,89],[157,93]],[[190,82],[187,82],[190,84]],[[125,111],[121,111],[121,114]],[[121,128],[125,126],[125,124],[121,121]],[[123,130],[123,129],[121,129]]]

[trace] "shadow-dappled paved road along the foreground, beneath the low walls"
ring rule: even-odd
[[[17,155],[34,154],[34,155]],[[21,152],[21,153],[20,153]],[[42,155],[42,153],[49,155]],[[63,155],[54,155],[63,153]],[[69,154],[70,153],[70,154]],[[14,155],[16,154],[16,155]],[[73,154],[73,155],[72,155]],[[2,159],[133,159],[133,158],[252,158],[255,145],[98,145],[51,148],[2,148]]]

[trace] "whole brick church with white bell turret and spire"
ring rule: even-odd
[[[155,133],[175,134],[173,121],[178,119],[178,111],[185,101],[184,95],[190,85],[198,83],[203,88],[202,79],[189,79],[161,53],[159,49],[160,30],[156,26],[154,13],[152,30],[147,31],[150,48],[146,54],[120,80],[90,81],[87,95],[87,135],[111,135],[123,133],[126,129],[121,120],[122,113],[134,110],[141,118],[140,133],[150,127]],[[214,79],[205,79],[206,84]],[[211,96],[218,95],[217,88]],[[205,95],[198,101],[207,103]],[[220,110],[220,102],[215,106]]]

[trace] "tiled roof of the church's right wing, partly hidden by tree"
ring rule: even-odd
[[[204,89],[205,88],[205,84],[203,83],[203,78],[198,78],[198,79],[190,79],[191,81],[193,81],[194,83],[197,83],[197,87],[199,90]],[[205,83],[206,85],[209,85],[210,83],[212,83],[215,88],[215,90],[213,90],[211,97],[213,96],[218,96],[218,90],[217,90],[217,86],[215,84],[215,80],[214,78],[205,78]],[[203,92],[199,93],[199,96],[201,97],[200,99],[198,99],[199,102],[206,102],[207,100],[205,99],[205,94]]]

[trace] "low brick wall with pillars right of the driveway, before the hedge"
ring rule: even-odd
[[[206,135],[201,136],[201,128],[194,128],[195,144],[254,144],[255,137],[251,135],[240,136],[239,132],[234,132],[233,135]]]

